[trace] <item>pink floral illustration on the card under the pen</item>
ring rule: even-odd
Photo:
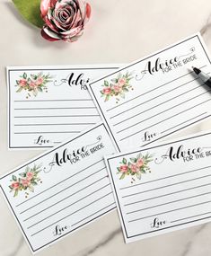
[[[104,80],[101,90],[101,97],[104,97],[104,102],[108,102],[113,97],[116,98],[117,103],[120,98],[125,99],[125,94],[134,90],[130,84],[131,79],[133,79],[132,73],[127,72],[126,75],[119,73],[118,77],[111,79],[110,82]]]

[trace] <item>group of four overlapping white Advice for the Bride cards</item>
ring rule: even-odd
[[[54,146],[1,178],[31,252],[116,207],[126,243],[210,220],[211,133],[161,142],[211,116],[191,66],[199,34],[120,69],[8,68],[9,148]]]

